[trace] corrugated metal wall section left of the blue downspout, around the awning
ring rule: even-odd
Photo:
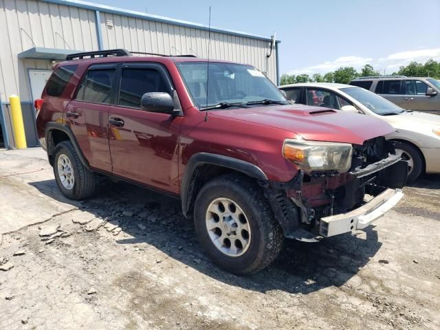
[[[94,10],[34,0],[0,0],[0,96],[31,100],[27,69],[50,69],[50,61],[19,60],[32,47],[97,50]]]

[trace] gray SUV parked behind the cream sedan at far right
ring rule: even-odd
[[[362,77],[350,85],[362,87],[408,110],[440,115],[440,82],[433,78],[406,76]]]

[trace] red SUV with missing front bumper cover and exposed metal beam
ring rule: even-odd
[[[181,199],[225,270],[269,265],[283,239],[365,228],[402,196],[407,163],[375,118],[289,104],[258,69],[125,50],[68,56],[36,100],[58,187],[97,175]]]

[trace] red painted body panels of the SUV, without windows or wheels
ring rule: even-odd
[[[39,136],[44,136],[46,122],[63,120],[63,110],[74,111],[78,118],[66,118],[64,113],[64,120],[74,131],[93,168],[177,195],[188,159],[195,153],[242,159],[259,166],[270,180],[289,181],[298,168],[282,155],[286,138],[362,144],[393,131],[386,122],[369,116],[335,111],[322,113],[326,109],[300,104],[210,111],[205,120],[205,112],[192,103],[176,61],[203,60],[133,56],[69,61],[67,65],[78,64],[79,67],[61,98],[52,98],[43,92],[43,109],[37,118]],[[164,65],[173,80],[184,116],[71,101],[89,65],[119,62]],[[109,125],[108,120],[113,117],[124,120],[124,126]],[[342,185],[343,180],[333,182],[341,179],[330,179],[325,186]],[[316,189],[322,189],[322,183],[312,182],[307,188],[320,199]]]

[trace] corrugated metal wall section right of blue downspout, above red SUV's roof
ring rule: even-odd
[[[193,54],[208,57],[208,31],[101,12],[104,49],[125,48],[133,52]],[[254,65],[276,82],[276,54],[266,68],[270,42],[211,32],[210,58]]]

